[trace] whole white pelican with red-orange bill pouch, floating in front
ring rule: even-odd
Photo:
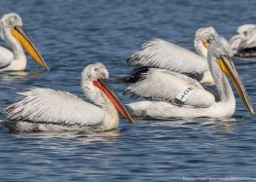
[[[82,73],[82,90],[98,106],[70,92],[34,88],[20,93],[23,97],[3,111],[7,121],[0,124],[24,132],[102,131],[118,127],[118,111],[135,124],[108,78],[101,63],[88,65]]]

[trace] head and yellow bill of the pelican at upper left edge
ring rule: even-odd
[[[50,70],[43,57],[39,54],[33,42],[22,28],[22,20],[16,13],[4,15],[0,19],[0,33],[3,40],[13,36],[29,55],[43,68]]]

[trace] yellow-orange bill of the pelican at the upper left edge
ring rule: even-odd
[[[43,68],[45,68],[47,71],[49,71],[49,67],[44,61],[43,57],[39,54],[37,51],[35,45],[33,42],[28,38],[24,30],[21,26],[15,26],[14,29],[12,29],[13,36],[18,40],[18,42],[22,45],[22,47],[27,51],[29,55]]]

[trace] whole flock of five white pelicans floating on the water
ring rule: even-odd
[[[22,30],[18,14],[4,15],[0,32],[10,48],[0,47],[0,72],[25,70],[27,59],[22,48],[50,70]],[[124,105],[108,83],[106,67],[94,63],[82,72],[81,87],[95,105],[70,92],[33,88],[20,92],[21,98],[3,110],[7,118],[0,124],[13,131],[102,131],[119,126],[118,113],[132,125],[132,117],[232,117],[236,98],[230,81],[254,115],[233,57],[256,56],[256,25],[238,27],[238,35],[229,42],[213,27],[200,28],[195,48],[197,54],[155,39],[128,57],[128,65],[135,70],[128,76],[131,84],[125,94],[141,97],[140,101]]]

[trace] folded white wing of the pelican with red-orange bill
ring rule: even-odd
[[[105,111],[70,92],[35,88],[19,94],[22,98],[4,110],[8,120],[82,127],[104,119]]]

